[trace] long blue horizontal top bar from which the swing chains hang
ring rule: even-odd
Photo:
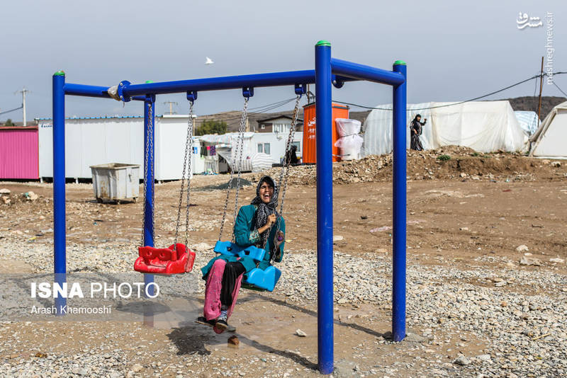
[[[275,72],[242,76],[223,76],[208,79],[165,81],[162,83],[130,84],[123,89],[124,96],[180,93],[187,91],[214,91],[243,87],[286,86],[315,83],[315,70]]]

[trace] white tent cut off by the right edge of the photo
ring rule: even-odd
[[[529,156],[567,157],[566,140],[567,101],[553,108],[529,138],[534,142]]]

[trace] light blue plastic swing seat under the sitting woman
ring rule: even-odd
[[[256,261],[262,261],[266,254],[265,249],[254,246],[243,248],[230,241],[217,241],[214,251],[227,256],[249,257]],[[247,274],[247,280],[242,280],[242,284],[244,287],[249,287],[253,290],[259,289],[273,292],[280,276],[281,270],[272,265],[265,270],[254,268]]]

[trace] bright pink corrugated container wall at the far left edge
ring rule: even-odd
[[[39,176],[38,127],[0,127],[0,178]]]

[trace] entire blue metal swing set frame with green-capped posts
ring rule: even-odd
[[[194,100],[199,91],[218,91],[268,86],[294,86],[315,83],[315,116],[317,127],[317,275],[318,275],[318,367],[322,374],[333,371],[333,248],[332,248],[332,86],[341,88],[347,81],[372,81],[393,88],[393,286],[392,334],[394,341],[405,338],[405,270],[406,270],[406,66],[396,61],[388,71],[331,57],[330,42],[315,45],[315,69],[286,71],[269,74],[225,76],[208,79],[167,81],[160,83],[118,85],[120,100],[144,102],[144,127],[155,121],[155,96],[164,93],[187,93]],[[248,92],[249,94],[249,92]],[[111,98],[106,86],[89,86],[65,82],[65,74],[53,75],[53,216],[54,265],[56,282],[66,280],[65,235],[65,95]],[[246,93],[245,93],[246,95]],[[150,120],[150,117],[152,118]],[[150,142],[146,137],[144,142]],[[149,136],[152,141],[155,134]],[[153,144],[155,145],[155,144]],[[150,151],[148,166],[155,164],[154,151]],[[153,182],[152,169],[147,169],[146,182]],[[145,245],[153,246],[151,225],[153,217],[152,185],[145,193]],[[145,275],[146,285],[153,275]],[[153,285],[152,287],[153,288]],[[64,298],[56,299],[56,308],[64,306]]]

